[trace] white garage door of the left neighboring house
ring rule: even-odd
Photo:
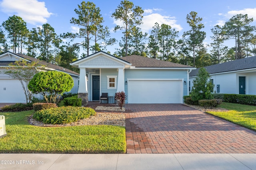
[[[0,103],[26,103],[19,80],[0,79]]]

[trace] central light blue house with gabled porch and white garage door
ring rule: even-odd
[[[99,51],[73,63],[80,68],[78,96],[82,103],[99,101],[108,93],[125,92],[126,103],[183,103],[188,95],[188,73],[196,69],[183,64],[131,55],[117,58]]]

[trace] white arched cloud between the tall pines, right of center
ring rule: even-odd
[[[143,16],[143,24],[140,25],[143,32],[149,32],[152,27],[157,22],[159,25],[162,23],[170,25],[172,28],[175,28],[176,31],[181,31],[183,28],[181,25],[177,24],[177,20],[175,20],[175,17],[170,16],[162,16],[160,14],[150,14],[147,16]]]

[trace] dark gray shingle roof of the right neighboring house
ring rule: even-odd
[[[210,74],[256,68],[256,56],[205,66],[204,68],[206,68],[206,71],[208,71]],[[189,76],[196,76],[199,69],[200,68],[196,68],[196,70],[192,70]]]

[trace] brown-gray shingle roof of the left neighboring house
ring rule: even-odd
[[[12,53],[12,52],[8,52],[8,53]],[[54,70],[60,70],[60,71],[63,71],[63,72],[67,72],[67,73],[75,74],[75,75],[78,75],[78,76],[79,76],[79,73],[74,72],[74,71],[72,71],[72,70],[69,70],[69,69],[67,69],[67,68],[64,68],[64,67],[62,67],[62,66],[57,66],[57,65],[55,65],[55,64],[47,63],[46,61],[38,60],[38,59],[36,59],[36,58],[34,58],[34,57],[30,57],[30,56],[27,56],[27,55],[24,55],[24,54],[20,54],[20,53],[18,53],[18,54],[12,53],[12,54],[17,55],[17,56],[20,56],[20,57],[22,57],[22,58],[24,58],[24,59],[27,59],[27,60],[29,60],[29,61],[36,61],[36,62],[38,62],[38,64],[44,65],[44,66],[49,67],[49,68],[52,68],[52,69],[54,69]],[[10,63],[13,63],[13,61],[1,62],[0,65],[6,66],[6,65],[9,65]]]

